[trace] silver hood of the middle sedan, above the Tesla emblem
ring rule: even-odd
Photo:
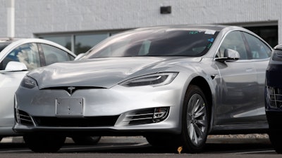
[[[93,86],[110,88],[116,84],[145,74],[165,72],[180,62],[200,62],[201,58],[183,57],[127,57],[97,58],[71,62],[57,62],[28,73],[39,88],[58,86]]]

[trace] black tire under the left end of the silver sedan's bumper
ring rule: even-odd
[[[37,134],[23,136],[23,140],[33,152],[57,152],[65,143],[66,137]]]

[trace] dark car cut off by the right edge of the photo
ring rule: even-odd
[[[269,139],[276,152],[282,153],[282,44],[274,47],[266,69],[266,117]]]

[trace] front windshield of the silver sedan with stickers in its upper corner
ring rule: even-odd
[[[209,29],[137,29],[102,41],[87,52],[86,58],[197,57],[209,51],[217,34]]]

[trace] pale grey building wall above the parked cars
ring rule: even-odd
[[[0,37],[6,37],[6,7],[0,0]],[[161,14],[171,6],[171,14]],[[121,30],[177,24],[278,24],[281,0],[15,0],[15,35]]]

